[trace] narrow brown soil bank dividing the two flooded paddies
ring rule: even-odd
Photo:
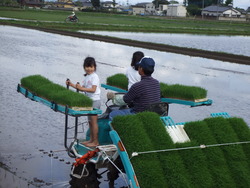
[[[228,54],[228,53],[220,53],[220,52],[212,52],[212,51],[205,51],[199,49],[192,49],[192,48],[184,48],[184,47],[177,47],[171,45],[164,45],[164,44],[156,44],[150,42],[142,42],[142,41],[135,41],[135,40],[127,40],[127,39],[120,39],[108,36],[100,36],[100,35],[93,35],[87,33],[78,33],[72,31],[64,31],[64,30],[57,30],[57,29],[50,29],[50,28],[41,28],[41,27],[33,27],[33,26],[26,26],[21,24],[9,24],[9,23],[1,23],[3,25],[11,25],[16,27],[23,27],[28,29],[36,29],[39,31],[49,32],[49,33],[56,33],[60,35],[90,39],[90,40],[97,40],[103,42],[109,42],[114,44],[122,44],[127,46],[134,46],[164,52],[171,52],[189,56],[196,56],[196,57],[203,57],[208,59],[226,61],[231,63],[238,63],[243,65],[250,65],[250,57],[243,56],[243,55],[235,55],[235,54]]]

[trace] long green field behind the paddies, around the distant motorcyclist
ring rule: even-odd
[[[0,17],[27,19],[32,21],[0,20],[34,27],[59,30],[107,30],[131,32],[191,33],[208,35],[250,35],[249,23],[222,22],[195,19],[167,19],[123,14],[77,12],[79,23],[65,23],[69,11],[24,10],[0,8]],[[35,22],[34,22],[35,21]]]

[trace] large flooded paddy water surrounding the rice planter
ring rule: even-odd
[[[16,86],[31,74],[62,85],[66,78],[81,81],[86,56],[96,58],[97,73],[105,83],[107,76],[124,73],[132,53],[141,50],[155,59],[153,76],[161,82],[204,87],[214,101],[196,108],[171,104],[169,115],[176,122],[226,111],[250,125],[250,66],[10,26],[0,26],[0,33],[0,187],[69,187],[73,159],[63,151],[64,115],[26,99]],[[102,94],[104,103],[103,89]],[[106,179],[104,174],[100,187],[108,187]],[[122,179],[116,181],[116,187],[122,185]]]

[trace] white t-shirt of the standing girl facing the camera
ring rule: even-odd
[[[85,94],[93,101],[100,100],[101,99],[100,79],[95,72],[93,72],[92,74],[88,74],[83,81],[83,87],[92,88],[93,85],[97,86],[95,92],[94,93],[85,92]]]

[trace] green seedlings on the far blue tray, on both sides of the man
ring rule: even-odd
[[[107,84],[124,90],[128,90],[128,79],[124,74],[115,74],[107,78]],[[207,90],[196,86],[184,86],[180,84],[168,85],[160,83],[161,95],[165,98],[175,98],[195,101],[207,97]]]

